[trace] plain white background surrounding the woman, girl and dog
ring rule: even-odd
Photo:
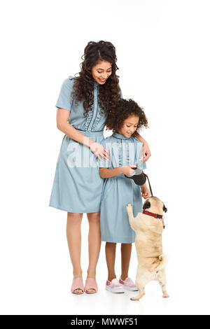
[[[0,13],[1,314],[209,314],[209,1],[1,1]],[[139,302],[106,291],[104,242],[99,293],[70,293],[66,212],[48,207],[64,136],[55,103],[99,40],[116,46],[123,97],[148,117],[146,173],[168,209],[168,299],[155,281]],[[82,231],[85,281],[86,214]],[[133,280],[136,269],[133,245]]]

